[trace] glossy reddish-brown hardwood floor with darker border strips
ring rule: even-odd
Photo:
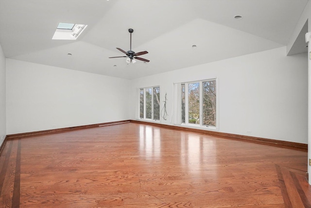
[[[9,139],[0,208],[311,208],[307,160],[132,122]]]

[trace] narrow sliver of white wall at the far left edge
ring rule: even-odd
[[[5,56],[0,45],[0,145],[6,136]]]

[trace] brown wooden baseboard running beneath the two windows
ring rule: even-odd
[[[298,150],[303,150],[303,151],[308,152],[308,144],[297,143],[297,142],[292,142],[292,141],[282,141],[282,140],[276,140],[276,139],[250,137],[250,136],[245,136],[245,135],[229,134],[229,133],[223,133],[223,132],[217,132],[217,131],[195,129],[195,128],[189,128],[185,126],[168,125],[168,124],[148,122],[148,121],[138,121],[138,120],[130,120],[130,121],[134,123],[149,124],[149,125],[154,125],[154,126],[159,126],[159,127],[164,127],[164,128],[174,129],[174,130],[190,131],[190,132],[210,135],[214,137],[250,141],[250,142],[255,142],[255,143],[260,143],[260,144],[267,144],[267,145],[273,145],[273,146],[278,146],[278,147],[286,147],[286,148],[298,149]]]

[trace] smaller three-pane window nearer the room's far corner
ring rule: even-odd
[[[160,120],[160,87],[139,89],[139,118]]]

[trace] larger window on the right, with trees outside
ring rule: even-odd
[[[181,84],[181,122],[217,129],[216,79]]]

